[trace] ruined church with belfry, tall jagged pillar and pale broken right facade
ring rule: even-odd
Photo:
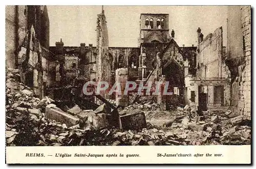
[[[195,31],[195,34],[198,34],[198,39],[195,39],[198,41],[197,45],[179,46],[175,41],[175,31],[169,30],[168,14],[142,13],[139,47],[110,47],[106,16],[102,10],[97,18],[96,31],[96,46],[86,46],[84,43],[77,47],[64,46],[62,41],[56,42],[56,46],[50,46],[51,52],[65,56],[67,78],[77,76],[70,73],[74,70],[72,66],[77,66],[80,76],[90,81],[106,81],[113,85],[116,81],[116,70],[127,68],[127,81],[135,81],[138,84],[142,81],[146,84],[148,81],[154,83],[164,77],[164,80],[169,82],[168,89],[174,95],[162,96],[159,99],[161,101],[157,101],[163,110],[166,105],[168,108],[168,105],[172,104],[174,96],[179,96],[183,104],[189,104],[195,110],[207,109],[207,106],[214,105],[228,106],[227,100],[230,98],[228,92],[224,94],[224,91],[229,86],[227,79],[222,78],[222,70],[209,71],[211,67],[208,67],[207,71],[212,75],[201,75],[201,71],[205,70],[200,67],[205,64],[202,62],[205,60],[200,59],[200,53],[212,35],[203,39],[200,28]],[[213,38],[216,37],[219,38],[217,58],[210,59],[212,64],[222,67],[222,28],[217,29]],[[205,102],[207,93],[208,103]]]

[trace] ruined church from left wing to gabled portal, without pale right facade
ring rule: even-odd
[[[81,43],[80,47],[62,46],[61,51],[64,51],[66,58],[68,55],[79,58],[80,74],[86,79],[107,81],[113,85],[115,70],[127,68],[129,81],[136,81],[138,84],[141,81],[154,82],[164,75],[166,81],[170,82],[171,90],[175,88],[178,91],[176,94],[182,95],[184,63],[187,60],[189,71],[193,71],[196,66],[196,47],[179,47],[175,42],[174,30],[170,36],[168,27],[168,14],[141,14],[140,47],[109,47],[105,15],[102,11],[97,19],[96,47]],[[59,42],[56,42],[56,46],[51,46],[50,50],[56,53],[58,45]]]

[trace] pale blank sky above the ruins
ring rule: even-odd
[[[96,19],[101,6],[47,6],[50,19],[50,45],[62,38],[65,46],[80,43],[96,45]],[[140,13],[169,14],[179,46],[197,44],[197,29],[204,37],[223,28],[226,45],[227,6],[104,6],[110,47],[137,47]],[[170,32],[169,32],[170,33]]]

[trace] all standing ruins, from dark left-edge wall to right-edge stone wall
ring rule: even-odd
[[[198,28],[197,44],[179,46],[175,41],[179,35],[169,28],[169,15],[161,13],[140,14],[139,47],[112,47],[103,9],[96,20],[96,46],[65,46],[65,37],[49,46],[46,6],[8,6],[6,11],[6,66],[22,69],[21,81],[33,87],[38,98],[46,95],[47,88],[69,85],[74,78],[113,85],[121,75],[118,70],[125,68],[126,81],[169,82],[174,94],[156,100],[162,110],[178,97],[194,110],[230,108],[250,118],[247,6],[228,7],[227,47],[221,26],[207,36]]]

